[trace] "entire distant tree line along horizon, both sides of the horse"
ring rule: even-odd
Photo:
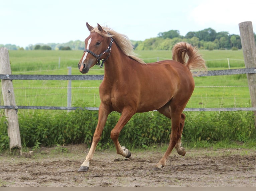
[[[256,40],[255,33],[254,38]],[[171,50],[176,43],[181,41],[188,42],[199,49],[206,50],[242,49],[241,39],[239,35],[229,34],[225,31],[217,33],[212,28],[207,28],[197,32],[188,32],[185,36],[180,35],[178,30],[170,30],[167,32],[160,32],[158,33],[157,37],[146,39],[144,41],[131,40],[135,50]],[[24,50],[23,47],[18,47],[11,44],[0,44],[0,47],[6,47],[9,50]],[[84,42],[77,40],[61,44],[30,44],[25,48],[25,50],[84,50],[84,48]]]

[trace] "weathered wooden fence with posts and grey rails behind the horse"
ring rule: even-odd
[[[244,53],[244,69],[208,71],[197,76],[220,76],[247,74],[252,107],[234,108],[185,108],[184,111],[254,111],[256,126],[256,48],[251,22],[239,24],[241,42]],[[17,109],[65,109],[75,110],[78,108],[98,110],[98,107],[55,107],[55,106],[18,106],[15,103],[12,80],[103,80],[103,75],[11,75],[8,50],[0,48],[0,79],[2,81],[4,105],[8,120],[8,136],[10,137],[10,150],[18,148],[21,150],[21,140],[18,125]]]

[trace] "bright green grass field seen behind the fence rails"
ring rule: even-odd
[[[243,52],[200,50],[209,70],[244,68]],[[136,51],[145,62],[171,59],[170,51]],[[82,75],[77,68],[83,51],[9,51],[12,74]],[[60,58],[60,65],[59,65]],[[94,66],[87,75],[104,74]],[[250,95],[246,75],[195,77],[196,88],[187,107],[249,107]],[[100,104],[101,81],[72,81],[72,106]],[[0,85],[1,86],[1,85]],[[67,81],[13,81],[17,105],[67,106]],[[213,86],[221,86],[214,87]],[[233,87],[230,87],[233,86]],[[242,87],[241,87],[242,86]],[[81,105],[80,105],[81,104]],[[3,99],[1,95],[1,104]]]

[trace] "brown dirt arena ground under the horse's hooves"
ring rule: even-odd
[[[152,167],[164,151],[133,151],[126,159],[115,150],[96,150],[88,172],[78,172],[86,145],[40,148],[32,156],[0,154],[0,186],[256,186],[256,151],[186,149],[173,151],[166,167]]]

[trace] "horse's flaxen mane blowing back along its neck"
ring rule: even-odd
[[[99,33],[102,36],[106,37],[112,37],[115,41],[115,43],[119,46],[119,48],[123,51],[123,53],[133,60],[138,61],[139,63],[145,64],[145,62],[138,57],[136,53],[133,52],[133,46],[131,44],[131,41],[126,35],[117,33],[116,31],[107,28],[107,27],[102,27],[102,29],[107,33],[102,33],[101,31],[98,30],[97,27],[91,30],[91,32],[96,32]]]

